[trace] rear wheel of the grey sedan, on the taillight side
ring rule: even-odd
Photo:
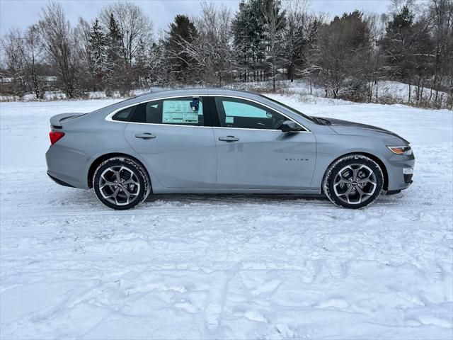
[[[120,181],[117,181],[117,176],[120,176]],[[151,181],[147,171],[137,161],[113,157],[102,162],[94,171],[93,188],[98,200],[108,208],[126,210],[147,199]]]

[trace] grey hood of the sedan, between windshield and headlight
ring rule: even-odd
[[[401,136],[396,135],[396,133],[391,132],[389,130],[385,130],[383,128],[378,128],[377,126],[355,123],[350,122],[348,120],[341,120],[336,118],[322,118],[322,117],[315,118],[327,120],[329,123],[331,123],[329,125],[329,128],[331,128],[333,131],[337,132],[340,135],[360,135],[369,137],[385,137],[383,135],[386,135],[391,137],[397,137],[403,140],[403,142],[405,142],[406,144],[409,144],[407,140],[405,140]]]

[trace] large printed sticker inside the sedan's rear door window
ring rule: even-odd
[[[198,124],[198,115],[202,115],[202,103],[198,111],[192,111],[190,101],[164,101],[162,123]]]

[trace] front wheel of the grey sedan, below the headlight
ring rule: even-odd
[[[334,204],[351,209],[373,203],[382,193],[382,169],[369,157],[352,154],[341,157],[328,167],[323,191]]]

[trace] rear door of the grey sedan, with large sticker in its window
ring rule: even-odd
[[[163,186],[215,188],[216,149],[208,119],[203,98],[168,98],[140,104],[124,133]]]

